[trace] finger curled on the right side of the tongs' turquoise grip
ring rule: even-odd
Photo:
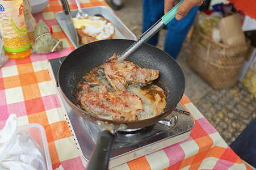
[[[181,20],[192,7],[202,5],[203,1],[204,0],[184,0],[177,8],[175,18]]]

